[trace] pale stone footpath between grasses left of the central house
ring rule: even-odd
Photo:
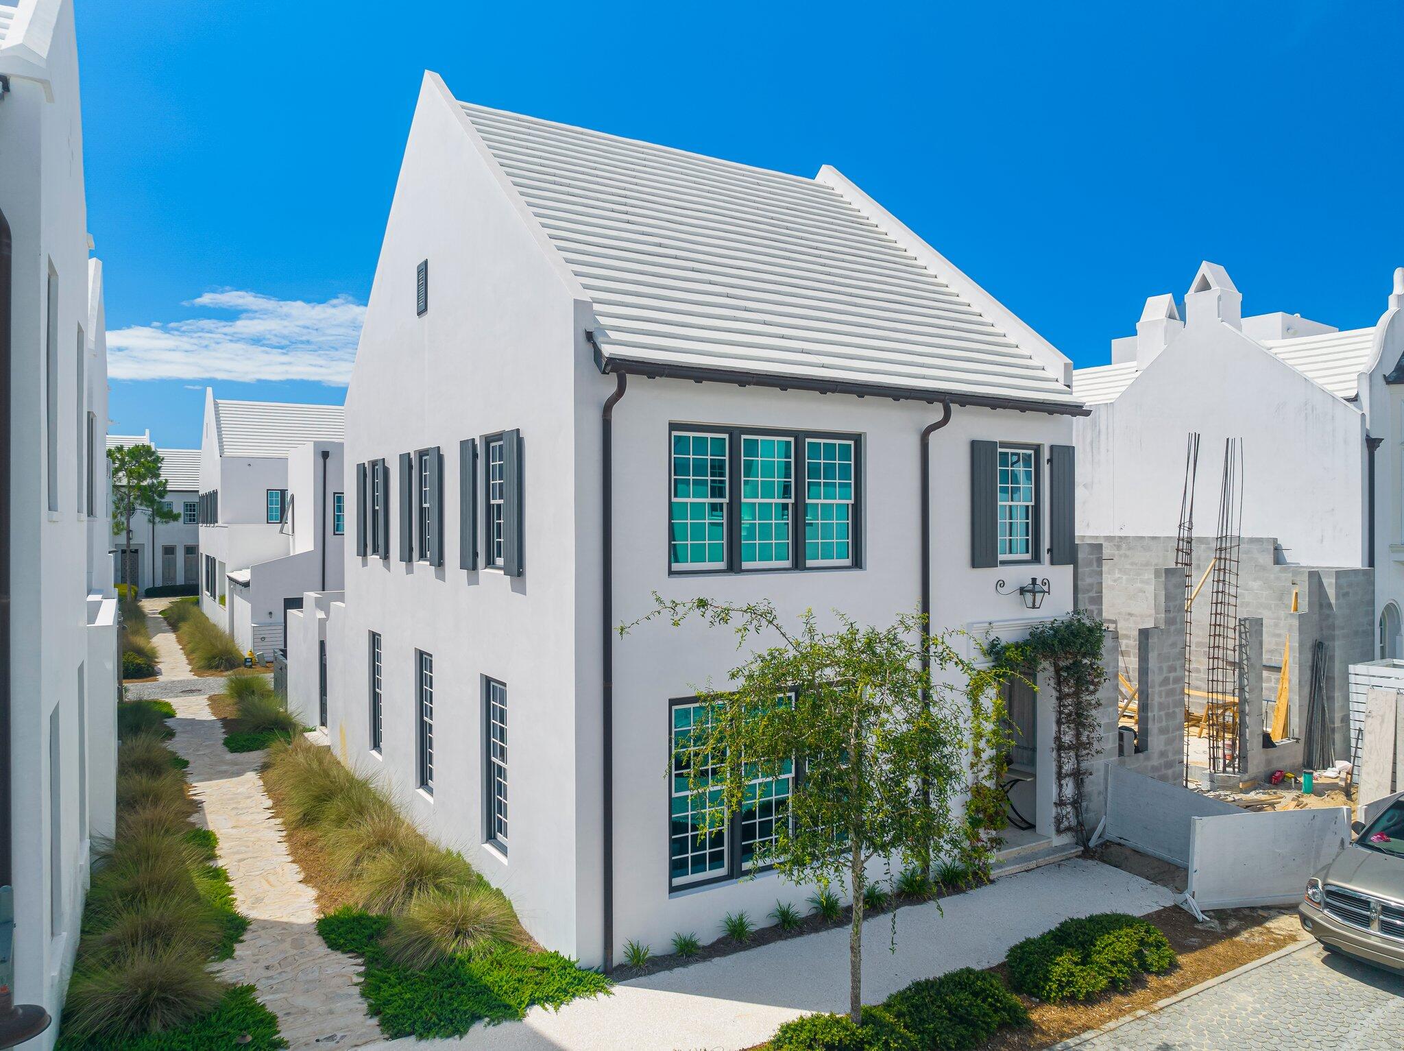
[[[205,690],[223,679],[199,679]],[[313,926],[316,892],[288,856],[282,825],[258,779],[264,752],[234,754],[205,697],[176,699],[171,747],[187,761],[201,817],[219,836],[239,911],[251,921],[233,960],[216,967],[230,982],[251,984],[278,1016],[292,1051],[351,1048],[380,1040],[357,988],[355,957],[333,953]]]

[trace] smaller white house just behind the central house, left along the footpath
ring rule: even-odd
[[[205,390],[199,460],[201,608],[271,654],[306,591],[341,587],[341,406],[227,401]]]

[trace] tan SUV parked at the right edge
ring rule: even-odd
[[[1404,796],[1307,880],[1302,928],[1327,949],[1404,972]]]

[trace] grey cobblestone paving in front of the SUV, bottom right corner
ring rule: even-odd
[[[1404,978],[1311,944],[1078,1051],[1398,1051]]]

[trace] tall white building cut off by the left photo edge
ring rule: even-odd
[[[117,599],[91,247],[73,4],[0,4],[0,885],[14,888],[0,923],[14,921],[14,1000],[55,1017],[91,843],[114,831]]]

